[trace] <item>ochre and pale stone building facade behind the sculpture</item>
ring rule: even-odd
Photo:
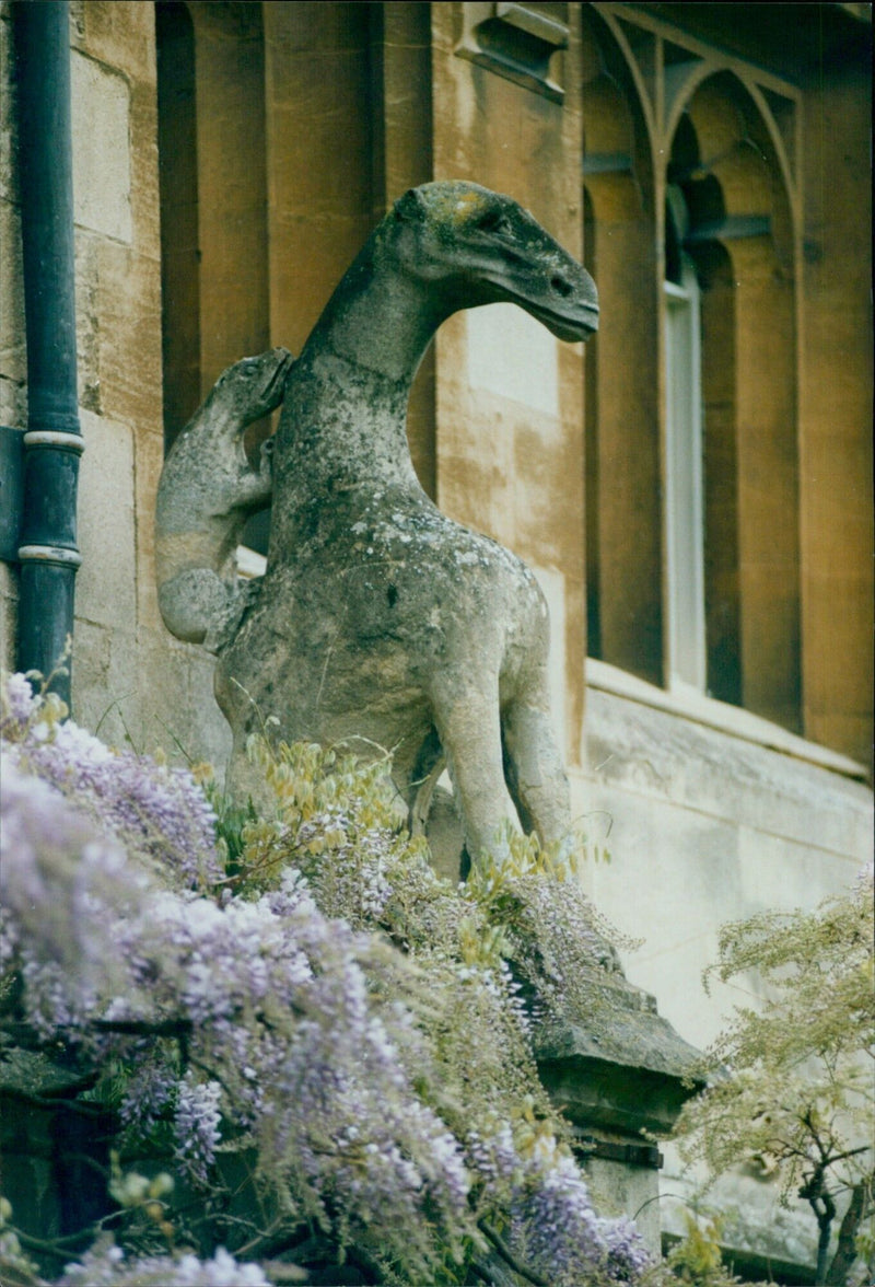
[[[300,349],[407,188],[512,194],[592,272],[601,329],[584,356],[511,306],[452,318],[412,453],[445,512],[535,569],[575,810],[611,853],[591,892],[645,940],[631,978],[706,1042],[732,1001],[699,986],[719,924],[813,906],[871,852],[869,13],[73,0],[76,718],[221,767],[212,659],[157,609],[166,444],[229,363]],[[0,423],[19,432],[10,14]],[[737,1263],[802,1282],[804,1221],[750,1178],[722,1201]]]

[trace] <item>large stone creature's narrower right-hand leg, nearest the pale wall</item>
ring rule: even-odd
[[[520,821],[542,844],[570,843],[569,784],[549,717],[547,676],[515,695],[502,713],[504,767]]]

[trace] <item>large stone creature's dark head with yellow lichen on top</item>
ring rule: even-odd
[[[395,202],[381,232],[399,266],[449,311],[506,300],[571,342],[598,327],[592,277],[512,197],[476,183],[426,183]]]

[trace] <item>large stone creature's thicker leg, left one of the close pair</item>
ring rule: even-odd
[[[471,861],[476,864],[484,852],[501,858],[506,828],[519,830],[519,825],[504,781],[498,676],[444,678],[432,703]]]

